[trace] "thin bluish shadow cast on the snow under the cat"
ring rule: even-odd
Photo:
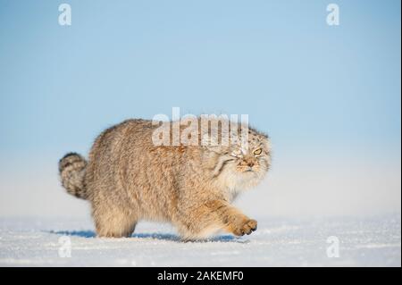
[[[48,231],[49,233],[54,233],[57,235],[63,235],[63,236],[74,236],[74,237],[80,237],[80,238],[96,238],[96,233],[95,231]],[[159,240],[171,240],[171,241],[178,241],[178,242],[186,242],[180,239],[179,236],[171,233],[159,233],[159,232],[154,232],[154,233],[133,233],[130,238],[122,238],[122,239],[159,239]],[[235,238],[230,235],[221,235],[221,236],[216,236],[214,238],[210,239],[205,239],[205,240],[191,240],[189,242],[238,242],[238,243],[247,243],[247,240],[241,240],[238,238]]]

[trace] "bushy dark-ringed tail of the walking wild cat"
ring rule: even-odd
[[[86,199],[85,171],[87,161],[76,153],[64,155],[59,161],[59,173],[63,187],[72,196]]]

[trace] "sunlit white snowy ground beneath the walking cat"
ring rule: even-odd
[[[2,266],[400,266],[400,214],[258,220],[250,236],[181,242],[168,224],[142,222],[128,239],[99,239],[92,222],[0,219]],[[339,239],[328,257],[327,239]],[[65,238],[71,257],[60,257]],[[60,239],[62,238],[62,239]],[[65,248],[65,247],[64,247]],[[63,253],[63,251],[62,251]]]

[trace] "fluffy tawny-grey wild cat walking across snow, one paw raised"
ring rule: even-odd
[[[89,153],[59,162],[63,187],[92,205],[100,237],[128,237],[140,220],[172,222],[182,239],[217,231],[255,231],[257,222],[230,205],[263,179],[271,163],[266,135],[248,130],[248,148],[159,146],[152,121],[128,120],[101,133]]]

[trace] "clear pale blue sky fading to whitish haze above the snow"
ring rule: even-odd
[[[71,27],[58,24],[62,3]],[[0,0],[0,214],[71,213],[78,202],[54,190],[57,160],[87,155],[105,127],[175,106],[247,113],[270,134],[270,192],[250,197],[250,210],[400,211],[400,8]]]

